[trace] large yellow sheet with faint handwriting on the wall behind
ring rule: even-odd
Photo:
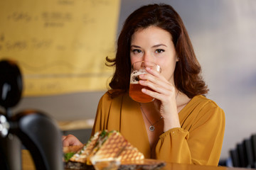
[[[107,89],[119,0],[1,0],[0,60],[18,62],[24,96]]]

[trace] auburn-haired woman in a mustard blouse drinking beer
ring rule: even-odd
[[[153,98],[138,103],[129,98],[131,65],[155,62],[161,73],[146,68],[139,84]],[[166,4],[151,4],[134,11],[125,21],[117,42],[111,90],[100,99],[92,135],[98,130],[119,130],[146,158],[184,164],[218,165],[225,114],[204,95],[191,41],[181,17]],[[154,126],[154,130],[149,129]],[[77,145],[73,136],[63,145]]]

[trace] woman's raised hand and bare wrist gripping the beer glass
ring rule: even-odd
[[[181,128],[176,103],[176,87],[156,70],[146,67],[146,72],[149,74],[139,75],[139,84],[153,90],[142,89],[142,93],[156,99],[154,104],[163,117],[164,132],[172,128]]]

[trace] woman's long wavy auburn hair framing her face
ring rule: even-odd
[[[205,81],[201,77],[201,66],[196,59],[191,40],[181,17],[172,6],[150,4],[134,11],[124,22],[117,40],[117,53],[114,59],[106,58],[107,66],[115,67],[110,87],[115,89],[112,97],[129,91],[131,72],[130,45],[132,35],[139,29],[156,26],[171,34],[178,56],[174,71],[176,88],[189,98],[208,93]]]

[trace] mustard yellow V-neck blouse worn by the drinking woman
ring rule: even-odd
[[[217,166],[225,130],[223,110],[200,95],[193,97],[178,116],[181,128],[164,132],[151,149],[139,103],[128,94],[110,98],[106,93],[98,104],[92,135],[99,130],[118,130],[146,158]]]

